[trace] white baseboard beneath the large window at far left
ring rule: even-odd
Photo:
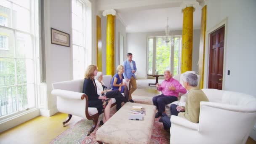
[[[3,123],[0,123],[0,133],[8,130],[10,128],[13,128],[16,125],[19,125],[28,120],[31,120],[32,118],[35,118],[37,116],[40,116],[39,109],[32,109],[28,112],[22,113],[21,115],[16,115],[15,117],[13,117],[7,121],[4,121]]]

